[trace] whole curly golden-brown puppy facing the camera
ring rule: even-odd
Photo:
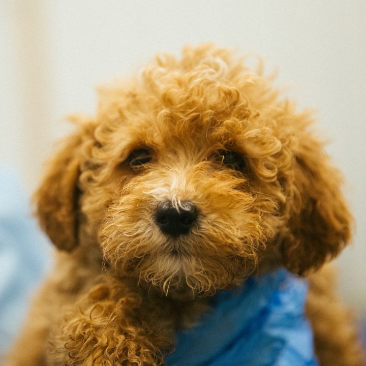
[[[36,193],[58,248],[10,365],[157,365],[211,295],[320,269],[351,216],[312,117],[224,49],[156,58],[100,91]],[[322,365],[361,365],[331,274],[310,277]]]

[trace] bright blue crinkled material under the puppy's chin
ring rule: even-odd
[[[177,334],[167,366],[316,366],[307,282],[285,269],[220,291],[199,325]]]

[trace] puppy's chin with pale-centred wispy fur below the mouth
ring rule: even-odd
[[[145,253],[141,258],[116,265],[120,273],[135,278],[142,288],[179,300],[210,296],[242,281],[238,261],[223,261],[219,255],[213,257],[208,253],[200,258],[178,246],[160,253]]]

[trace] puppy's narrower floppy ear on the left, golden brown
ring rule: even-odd
[[[48,170],[33,199],[41,228],[57,248],[71,251],[77,245],[81,135],[68,136],[62,143],[48,162]]]

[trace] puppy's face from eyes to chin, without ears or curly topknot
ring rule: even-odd
[[[166,291],[182,281],[209,291],[251,273],[281,222],[270,192],[278,183],[262,187],[245,150],[251,128],[167,114],[140,115],[118,130],[107,133],[102,145],[113,153],[98,161],[103,169],[82,198],[107,260]],[[266,138],[273,153],[280,149]],[[103,202],[95,205],[96,197]]]

